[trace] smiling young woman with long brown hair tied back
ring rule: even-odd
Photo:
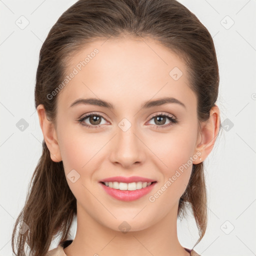
[[[196,244],[205,233],[203,160],[220,128],[218,84],[212,38],[179,2],[68,8],[40,50],[43,149],[13,252],[15,242],[16,255],[25,245],[33,256],[199,255],[181,246],[176,222],[191,207]],[[28,229],[15,237],[19,223]]]

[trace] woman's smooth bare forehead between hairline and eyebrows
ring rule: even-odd
[[[186,65],[171,50],[152,40],[118,38],[95,40],[68,60],[73,73],[58,95],[68,107],[75,99],[98,97],[129,103],[153,97],[194,97]]]

